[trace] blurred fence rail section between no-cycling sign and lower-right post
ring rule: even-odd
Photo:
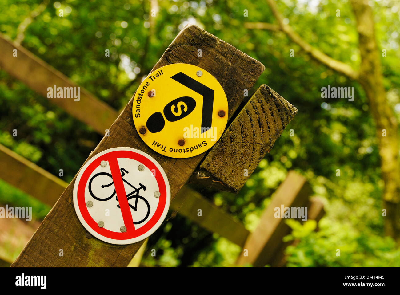
[[[176,195],[174,201],[172,201],[171,209],[241,247],[244,246],[250,233],[242,223],[234,220],[228,213],[222,211],[187,185],[182,187]],[[202,210],[202,216],[198,216],[198,209]]]

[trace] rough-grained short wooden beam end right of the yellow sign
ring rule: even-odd
[[[190,182],[238,192],[296,113],[282,96],[265,84],[260,86]]]

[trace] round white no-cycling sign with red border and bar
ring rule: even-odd
[[[169,206],[164,170],[134,148],[106,149],[87,161],[76,177],[76,215],[89,233],[108,243],[145,239],[160,227]]]

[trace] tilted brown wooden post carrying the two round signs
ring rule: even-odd
[[[201,58],[197,49],[202,49]],[[200,66],[220,82],[232,116],[242,101],[242,90],[249,89],[264,70],[264,66],[194,25],[186,26],[167,48],[153,71],[171,63],[184,62]],[[140,149],[151,155],[166,171],[172,199],[186,183],[204,154],[187,159],[172,159],[157,154],[139,138],[132,119],[133,99],[110,127],[110,136],[104,137],[89,156],[118,146]],[[76,177],[75,177],[76,178]],[[94,237],[88,239],[72,203],[75,178],[46,216],[28,245],[12,266],[114,266],[126,267],[143,241],[131,245],[111,245]],[[64,249],[60,259],[56,253]]]

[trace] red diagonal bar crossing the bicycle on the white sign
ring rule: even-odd
[[[133,224],[132,214],[130,213],[130,207],[128,199],[126,197],[126,191],[124,187],[124,182],[122,181],[120,166],[116,158],[108,159],[110,164],[110,170],[112,175],[112,180],[114,181],[115,191],[118,197],[118,203],[120,205],[122,218],[124,219],[126,232],[134,231],[135,226]]]

